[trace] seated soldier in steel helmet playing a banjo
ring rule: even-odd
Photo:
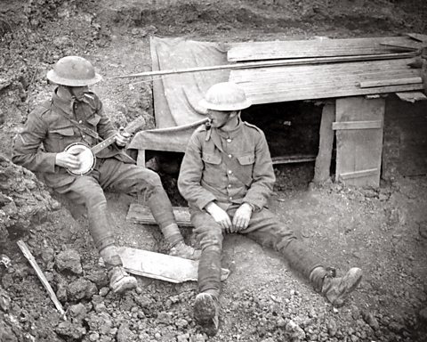
[[[135,288],[137,281],[125,272],[117,254],[104,189],[144,194],[171,247],[170,254],[197,259],[199,251],[183,241],[160,177],[136,166],[122,150],[129,134],[117,133],[100,99],[89,91],[89,85],[101,80],[93,65],[84,58],[67,56],[56,62],[47,78],[58,86],[52,99],[28,115],[15,138],[12,161],[43,173],[45,183],[54,191],[85,204],[94,244],[108,269],[110,288],[122,293]]]

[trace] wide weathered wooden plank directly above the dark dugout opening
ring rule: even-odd
[[[254,104],[422,90],[422,84],[359,87],[369,79],[420,77],[421,69],[409,68],[409,61],[231,70],[230,81],[240,84]]]

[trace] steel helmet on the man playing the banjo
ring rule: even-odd
[[[101,75],[95,72],[91,62],[85,58],[67,56],[55,63],[47,73],[47,79],[57,85],[85,86],[101,81]]]

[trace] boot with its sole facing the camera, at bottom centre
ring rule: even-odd
[[[218,332],[220,319],[218,299],[208,292],[197,295],[194,303],[194,319],[200,324],[206,335],[214,336]]]

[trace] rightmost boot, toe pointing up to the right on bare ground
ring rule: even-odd
[[[333,269],[316,267],[310,274],[310,281],[335,307],[344,305],[345,299],[362,280],[362,270],[352,267],[343,277],[336,277]]]

